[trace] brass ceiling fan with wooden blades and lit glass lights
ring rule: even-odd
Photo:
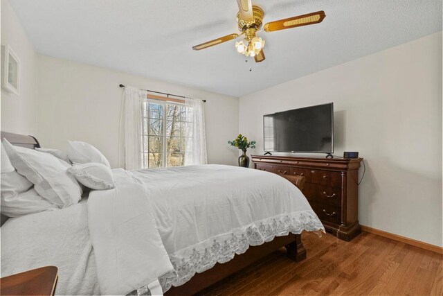
[[[289,17],[287,19],[280,19],[278,21],[271,21],[265,24],[262,28],[262,21],[264,12],[262,8],[252,5],[251,0],[237,0],[239,12],[237,13],[237,24],[240,34],[230,34],[224,37],[217,38],[202,44],[192,46],[192,49],[199,51],[207,49],[229,40],[233,40],[239,36],[244,35],[244,40],[235,42],[235,48],[238,53],[253,57],[255,62],[262,62],[264,60],[264,40],[257,37],[255,33],[260,30],[266,32],[280,31],[289,28],[300,26],[307,26],[318,24],[326,17],[323,10],[311,12],[307,15],[298,15],[296,17]]]

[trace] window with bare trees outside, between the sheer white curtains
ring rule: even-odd
[[[186,130],[192,124],[191,112],[182,104],[149,100],[143,103],[142,168],[184,165],[186,137],[190,136]]]

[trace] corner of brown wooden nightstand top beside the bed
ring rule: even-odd
[[[54,295],[57,268],[46,266],[0,279],[0,295]]]

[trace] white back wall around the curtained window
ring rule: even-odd
[[[38,80],[37,139],[44,147],[65,148],[67,139],[87,141],[117,167],[121,83],[206,99],[208,162],[237,162],[237,150],[227,141],[238,133],[238,98],[46,55],[38,55]]]

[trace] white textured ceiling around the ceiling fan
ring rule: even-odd
[[[234,40],[191,49],[237,33],[235,0],[10,1],[38,53],[231,96],[442,31],[442,0],[256,0],[264,23],[317,10],[326,18],[260,32],[266,60],[255,64]]]

